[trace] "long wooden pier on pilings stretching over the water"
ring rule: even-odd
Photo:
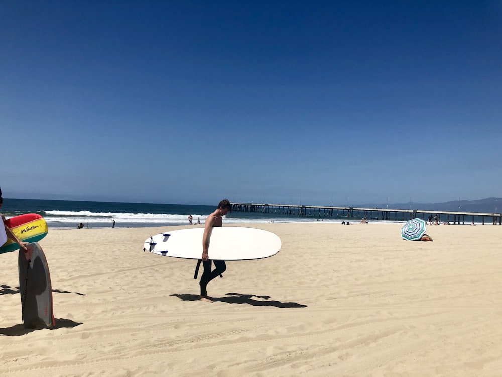
[[[452,224],[465,224],[474,222],[474,217],[481,218],[484,225],[485,218],[491,219],[492,224],[502,225],[502,214],[482,212],[455,212],[455,211],[432,211],[432,210],[401,210],[390,208],[362,208],[362,207],[323,207],[296,204],[268,204],[268,203],[232,203],[234,212],[261,212],[267,214],[304,216],[304,217],[327,217],[327,218],[366,218],[373,220],[396,220],[406,221],[416,217],[428,220],[429,216],[437,216],[438,222]],[[362,216],[361,216],[362,215]],[[470,221],[469,221],[470,220]]]

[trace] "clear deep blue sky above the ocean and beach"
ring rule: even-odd
[[[502,196],[502,2],[4,1],[4,197]]]

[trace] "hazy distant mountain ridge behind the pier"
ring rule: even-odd
[[[362,204],[353,207],[365,208],[391,208],[391,209],[410,209],[410,202],[408,203],[387,203],[384,204]],[[459,209],[460,207],[460,209]],[[412,210],[431,210],[434,211],[455,211],[455,212],[484,212],[484,213],[501,213],[502,212],[502,198],[485,198],[477,200],[452,200],[443,203],[414,203],[411,202]],[[495,212],[496,209],[496,212]]]

